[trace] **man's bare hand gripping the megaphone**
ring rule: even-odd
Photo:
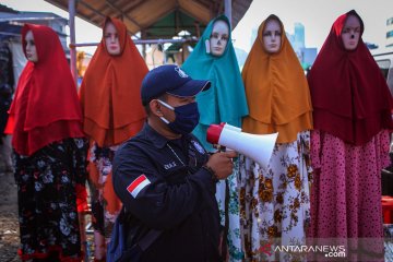
[[[206,166],[215,171],[217,179],[225,179],[233,174],[234,157],[237,157],[237,153],[235,151],[218,152],[210,156]]]

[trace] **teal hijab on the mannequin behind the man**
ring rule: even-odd
[[[206,52],[205,41],[210,40],[213,25],[224,21],[229,28],[229,38],[224,53],[215,57]],[[192,79],[210,80],[211,87],[196,96],[200,122],[193,134],[203,143],[207,151],[213,151],[206,142],[206,130],[212,123],[227,122],[241,127],[241,118],[248,115],[248,106],[238,61],[231,43],[229,20],[219,15],[212,20],[205,28],[194,50],[188,57],[182,69]]]

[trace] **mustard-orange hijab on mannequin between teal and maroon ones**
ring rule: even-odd
[[[270,20],[278,21],[283,33],[282,46],[275,53],[266,52],[263,44],[263,31]],[[312,129],[307,80],[276,15],[270,15],[260,25],[241,75],[250,110],[242,122],[245,132],[278,132],[277,143],[289,143],[298,132]]]

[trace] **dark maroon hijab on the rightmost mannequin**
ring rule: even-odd
[[[314,129],[347,143],[367,143],[381,129],[391,129],[392,97],[380,69],[361,37],[355,50],[344,48],[342,29],[354,11],[341,15],[308,76]]]

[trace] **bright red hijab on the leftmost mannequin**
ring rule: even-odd
[[[82,114],[76,87],[58,35],[49,27],[26,24],[32,31],[38,61],[24,68],[10,109],[8,129],[13,132],[12,145],[22,155],[32,155],[51,142],[82,138]]]

